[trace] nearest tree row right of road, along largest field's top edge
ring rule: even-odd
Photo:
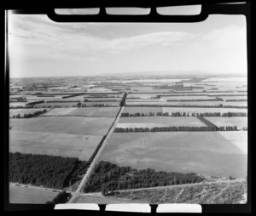
[[[114,133],[133,133],[133,132],[177,132],[177,131],[236,131],[234,126],[221,127],[191,127],[191,126],[170,126],[170,127],[154,127],[154,128],[114,128]]]

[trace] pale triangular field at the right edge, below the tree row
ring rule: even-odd
[[[236,131],[236,133],[232,133],[232,131],[221,131],[218,132],[225,139],[228,139],[232,144],[236,145],[241,151],[244,151],[246,154],[248,152],[248,134],[247,131]]]

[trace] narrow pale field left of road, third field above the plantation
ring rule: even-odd
[[[115,117],[118,112],[119,107],[55,108],[43,116]]]

